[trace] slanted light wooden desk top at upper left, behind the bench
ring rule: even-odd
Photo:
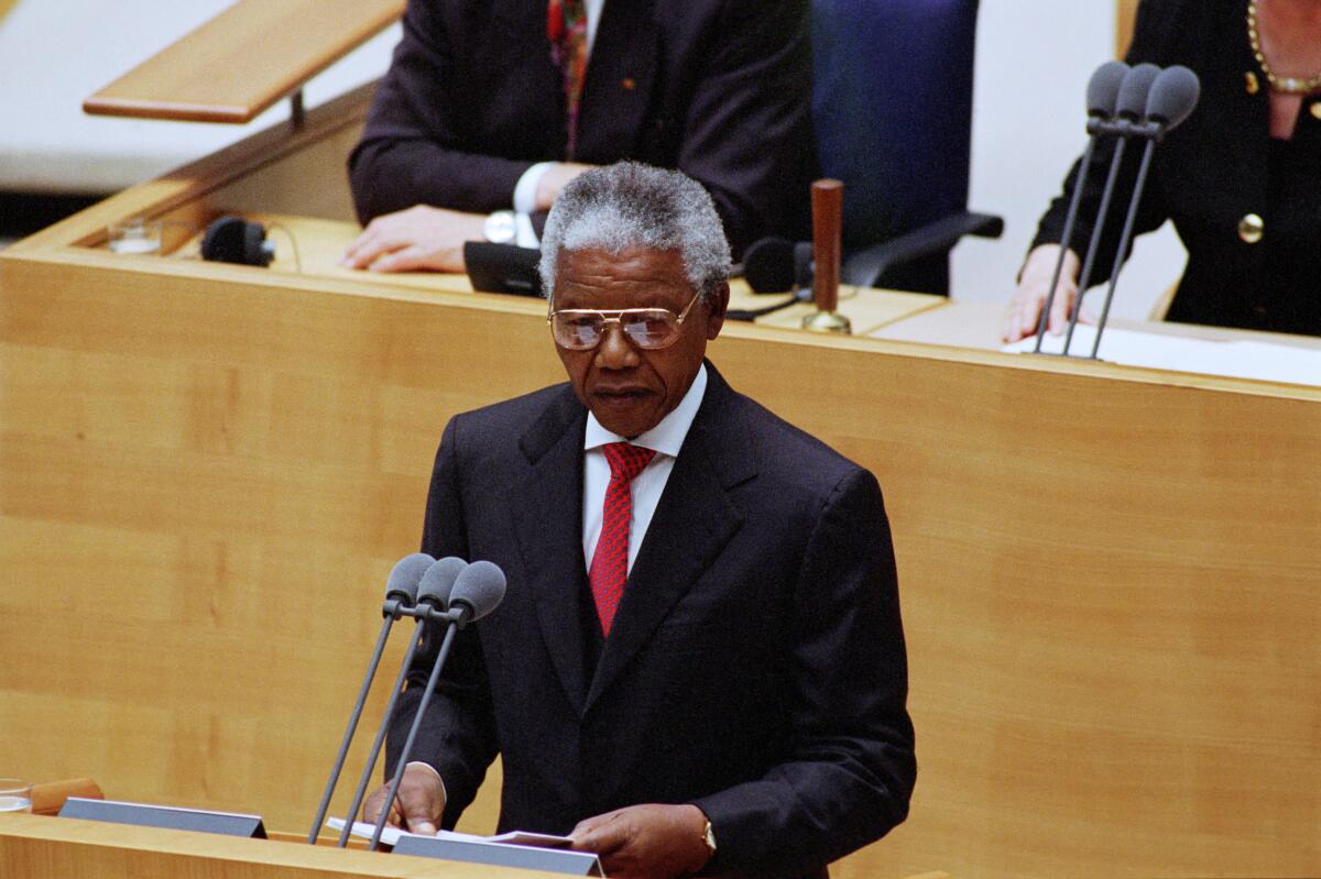
[[[403,8],[403,0],[239,0],[87,98],[83,111],[247,123]]]

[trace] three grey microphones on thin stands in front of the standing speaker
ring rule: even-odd
[[[336,756],[334,767],[330,769],[330,777],[326,780],[325,793],[321,796],[316,818],[313,818],[312,829],[308,831],[309,845],[316,845],[317,835],[321,831],[321,824],[325,821],[326,809],[330,806],[330,797],[334,795],[336,785],[339,781],[339,775],[343,772],[343,763],[349,755],[349,747],[353,744],[353,736],[358,729],[362,709],[367,702],[367,693],[376,676],[376,668],[380,665],[380,655],[386,648],[386,641],[390,639],[390,631],[394,623],[404,616],[411,616],[416,620],[416,627],[408,641],[408,649],[404,652],[403,663],[399,665],[399,673],[395,677],[394,688],[390,692],[390,702],[386,706],[386,713],[380,721],[380,726],[376,729],[376,736],[371,746],[371,752],[367,755],[367,763],[362,769],[362,776],[358,780],[358,788],[354,792],[353,802],[349,806],[347,816],[345,817],[343,830],[339,834],[338,841],[338,846],[341,849],[349,843],[349,834],[353,829],[354,817],[358,814],[358,809],[362,808],[362,800],[367,792],[367,785],[371,781],[371,772],[376,765],[376,758],[384,744],[386,734],[390,730],[390,723],[394,719],[395,707],[399,702],[399,694],[403,693],[404,681],[408,676],[408,669],[412,665],[413,653],[421,643],[427,623],[445,624],[445,636],[436,653],[436,661],[432,665],[431,676],[427,678],[427,689],[423,692],[421,700],[417,703],[417,714],[413,717],[412,726],[408,730],[408,738],[406,739],[404,747],[399,754],[399,762],[395,765],[395,773],[390,781],[390,792],[387,793],[384,804],[380,808],[380,814],[376,817],[376,825],[373,829],[371,842],[369,843],[371,850],[375,850],[380,843],[380,834],[384,830],[386,818],[390,814],[390,804],[395,801],[395,797],[399,793],[399,784],[403,779],[404,767],[408,764],[413,742],[417,738],[417,730],[427,713],[427,705],[431,702],[431,697],[436,692],[436,682],[440,680],[440,672],[444,668],[445,659],[449,656],[450,647],[454,643],[454,634],[495,610],[495,607],[498,607],[501,601],[505,598],[505,573],[489,561],[474,561],[469,564],[462,558],[456,558],[453,556],[436,560],[427,553],[412,553],[400,558],[394,566],[390,571],[390,578],[386,581],[386,601],[380,608],[382,616],[384,618],[380,623],[380,634],[376,636],[376,645],[373,651],[371,660],[367,664],[367,673],[363,676],[362,686],[358,690],[358,700],[354,703],[353,711],[349,714],[349,723],[343,732],[343,740],[339,743],[339,752]]]

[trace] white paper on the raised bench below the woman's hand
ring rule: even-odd
[[[1079,323],[1074,330],[1069,354],[1087,356],[1091,354],[1095,338],[1095,327]],[[1048,333],[1041,350],[1059,354],[1063,350],[1063,334],[1052,335]],[[1015,354],[1032,351],[1036,337],[1028,337],[1000,350]],[[1096,356],[1110,363],[1152,370],[1321,387],[1321,348],[1313,350],[1247,339],[1190,339],[1161,333],[1107,329],[1100,337],[1100,350]]]

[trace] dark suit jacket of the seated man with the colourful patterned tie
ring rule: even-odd
[[[608,0],[575,158],[679,168],[740,251],[810,236],[816,170],[806,0]],[[546,0],[410,0],[350,165],[362,222],[417,203],[509,209],[534,162],[563,160]]]

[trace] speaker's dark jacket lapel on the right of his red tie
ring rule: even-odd
[[[585,710],[647,643],[742,524],[729,490],[756,475],[733,392],[708,363],[707,393],[657,505],[592,678]]]

